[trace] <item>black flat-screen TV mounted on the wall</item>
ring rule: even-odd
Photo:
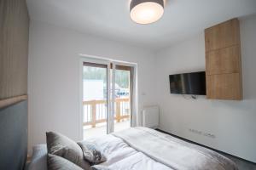
[[[171,94],[206,94],[206,72],[170,75]]]

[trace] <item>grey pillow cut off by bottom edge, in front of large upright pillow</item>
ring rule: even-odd
[[[48,154],[47,156],[48,170],[83,170],[71,161],[68,161],[61,156]]]

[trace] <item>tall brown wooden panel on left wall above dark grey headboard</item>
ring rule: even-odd
[[[26,0],[0,1],[0,100],[27,94]]]

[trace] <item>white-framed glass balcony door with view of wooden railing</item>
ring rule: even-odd
[[[132,67],[83,59],[82,68],[83,139],[131,127]]]

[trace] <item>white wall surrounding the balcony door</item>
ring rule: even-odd
[[[45,143],[46,131],[79,139],[79,54],[137,63],[138,109],[154,104],[154,54],[150,50],[32,21],[28,63],[30,151],[33,144]]]

